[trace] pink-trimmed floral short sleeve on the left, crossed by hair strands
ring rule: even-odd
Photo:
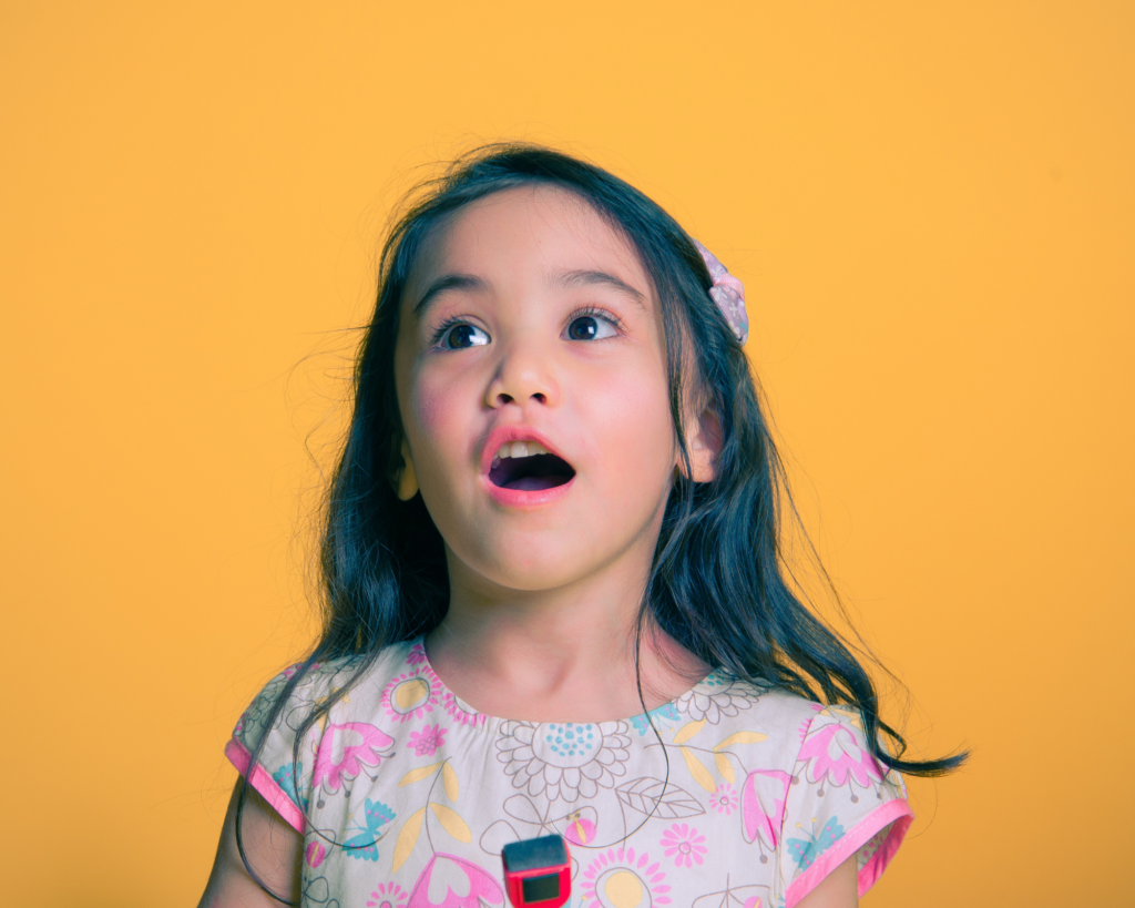
[[[276,813],[303,833],[311,797],[313,757],[319,753],[322,737],[320,723],[306,732],[309,740],[300,747],[299,754],[295,754],[294,746],[299,730],[320,693],[329,687],[330,679],[319,666],[312,666],[287,701],[275,711],[284,688],[299,667],[285,669],[257,695],[236,723],[233,738],[225,747],[225,756]],[[261,739],[263,746],[257,754],[255,765],[252,765],[252,755]]]

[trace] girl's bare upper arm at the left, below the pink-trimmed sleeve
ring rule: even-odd
[[[197,908],[280,908],[288,902],[299,905],[303,836],[285,823],[255,789],[249,787],[244,810],[241,812],[241,840],[260,882],[281,898],[274,899],[249,876],[236,847],[239,787],[241,780],[237,780],[225,815],[212,873]]]

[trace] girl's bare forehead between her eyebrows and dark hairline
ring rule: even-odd
[[[590,204],[554,186],[519,186],[464,205],[423,243],[405,297],[439,275],[520,279],[563,270],[611,272],[651,295],[630,241]]]

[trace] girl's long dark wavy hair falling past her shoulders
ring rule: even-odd
[[[906,742],[880,718],[875,686],[851,646],[793,591],[782,546],[782,527],[794,519],[784,468],[749,362],[708,295],[709,272],[689,235],[606,170],[527,144],[479,149],[419,187],[382,246],[378,304],[359,350],[353,414],[326,499],[322,634],[279,689],[266,728],[312,665],[346,659],[354,670],[351,679],[303,723],[295,739],[297,759],[308,729],[327,715],[382,647],[429,632],[446,614],[449,585],[440,533],[421,496],[400,501],[389,479],[402,465],[394,385],[398,311],[420,249],[449,215],[493,193],[530,185],[573,193],[638,252],[661,303],[671,413],[687,468],[682,412],[691,379],[721,423],[716,478],[705,484],[675,479],[636,646],[653,620],[700,659],[738,679],[858,711],[872,754],[889,767],[923,776],[956,768],[966,754],[902,758]],[[690,350],[683,355],[686,346]],[[683,376],[683,363],[693,364],[696,376]],[[260,742],[253,763],[259,751]],[[244,788],[236,823],[242,856],[243,801]]]

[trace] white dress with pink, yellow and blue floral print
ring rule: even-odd
[[[555,832],[572,908],[792,908],[851,856],[866,892],[911,821],[857,714],[717,672],[649,718],[518,722],[447,690],[421,640],[396,644],[299,760],[303,720],[352,671],[312,670],[266,728],[293,672],[226,754],[304,835],[304,906],[504,908],[503,846]]]

